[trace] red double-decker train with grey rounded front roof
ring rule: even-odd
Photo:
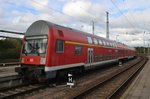
[[[24,78],[55,78],[59,71],[84,70],[133,58],[135,49],[99,36],[39,20],[26,31],[16,68]]]

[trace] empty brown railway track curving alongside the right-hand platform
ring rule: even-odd
[[[74,94],[71,98],[109,99],[119,98],[116,93],[143,67],[147,58],[141,57],[136,63],[128,64],[126,68],[109,75],[102,82],[95,82],[88,88],[82,89],[81,93]],[[80,89],[79,89],[80,90]]]

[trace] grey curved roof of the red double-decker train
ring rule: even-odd
[[[64,29],[67,29],[69,31],[74,31],[76,33],[84,34],[86,36],[90,36],[90,37],[93,37],[93,38],[98,38],[98,39],[101,39],[101,40],[104,40],[104,41],[114,42],[114,43],[117,44],[117,46],[119,48],[126,48],[126,49],[130,49],[130,50],[135,50],[134,48],[129,47],[125,44],[122,44],[122,43],[119,43],[119,42],[116,42],[116,41],[113,41],[113,40],[109,40],[109,39],[106,39],[106,38],[103,38],[103,37],[100,37],[100,36],[96,36],[96,35],[93,35],[93,34],[90,34],[90,33],[87,33],[87,32],[83,32],[83,31],[80,31],[80,30],[76,30],[76,29],[72,29],[72,28],[69,28],[69,27],[54,24],[52,22],[45,21],[45,20],[38,20],[38,21],[35,21],[34,23],[32,23],[30,25],[30,27],[27,29],[27,31],[25,33],[25,36],[31,36],[31,34],[32,34],[32,36],[34,36],[34,35],[47,35],[49,33],[49,28],[51,28],[51,27],[64,28]]]

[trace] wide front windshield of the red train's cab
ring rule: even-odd
[[[47,38],[26,38],[24,45],[24,54],[45,54],[47,47]]]

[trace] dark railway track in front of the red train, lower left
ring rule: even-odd
[[[0,80],[0,99],[23,98],[24,95],[52,87],[55,87],[54,83],[23,82],[18,76],[4,77]]]

